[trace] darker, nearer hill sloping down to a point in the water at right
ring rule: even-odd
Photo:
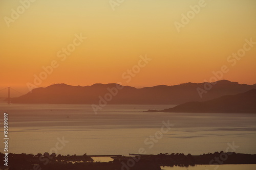
[[[256,89],[236,95],[224,95],[205,102],[188,102],[161,111],[146,112],[256,113]]]

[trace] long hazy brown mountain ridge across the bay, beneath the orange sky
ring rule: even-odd
[[[54,84],[45,88],[36,88],[32,92],[12,98],[12,103],[48,103],[48,104],[98,104],[100,96],[109,93],[108,104],[182,104],[202,102],[223,95],[238,94],[256,88],[256,85],[239,84],[221,80],[200,97],[197,89],[204,89],[205,83],[184,83],[174,86],[159,85],[135,88],[118,84],[94,84],[92,86],[70,86]],[[122,89],[115,90],[116,87]],[[117,94],[116,94],[117,93]],[[116,94],[116,95],[114,95]],[[110,96],[112,95],[112,97]],[[111,97],[111,98],[110,98]]]

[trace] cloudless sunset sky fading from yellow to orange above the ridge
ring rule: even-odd
[[[204,7],[182,0],[124,0],[115,7],[109,0],[37,0],[25,3],[27,8],[21,2],[30,1],[0,1],[1,89],[28,92],[27,83],[34,84],[34,75],[54,60],[58,67],[38,87],[200,83],[223,65],[229,71],[222,79],[256,83],[256,44],[247,44],[250,50],[236,63],[227,60],[243,49],[245,39],[256,42],[255,0],[205,0]],[[182,14],[193,14],[195,5],[200,11],[178,32],[174,23],[182,23]],[[12,14],[17,10],[19,16]],[[57,53],[75,35],[87,39],[61,61],[63,53]],[[152,60],[127,82],[122,75],[145,55]]]

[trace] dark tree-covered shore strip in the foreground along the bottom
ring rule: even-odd
[[[0,153],[0,157],[4,157]],[[94,162],[86,154],[56,155],[56,154],[8,154],[9,170],[160,170],[160,166],[194,166],[196,164],[256,164],[256,154],[236,154],[234,152],[215,152],[203,155],[184,155],[179,153],[116,156],[110,162]],[[4,166],[0,163],[0,168]]]

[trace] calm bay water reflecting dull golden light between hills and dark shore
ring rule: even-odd
[[[97,115],[91,105],[0,106],[9,114],[10,153],[50,152],[64,138],[69,142],[57,154],[129,155],[144,148],[146,154],[200,155],[225,151],[232,142],[236,153],[256,154],[255,114],[142,112],[172,105],[108,105]],[[168,120],[174,126],[150,139]]]

